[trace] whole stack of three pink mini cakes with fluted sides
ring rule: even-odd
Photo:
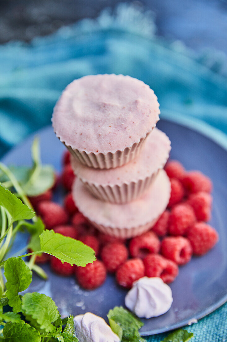
[[[76,206],[105,234],[140,235],[167,207],[170,141],[155,128],[159,114],[148,85],[113,74],[73,81],[54,108],[54,131],[77,176]]]

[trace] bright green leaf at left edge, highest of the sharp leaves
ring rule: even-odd
[[[0,206],[9,212],[13,221],[30,220],[35,216],[32,209],[23,204],[19,198],[2,184],[0,184]]]

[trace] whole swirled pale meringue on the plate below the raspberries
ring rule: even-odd
[[[143,277],[133,283],[125,297],[125,305],[138,317],[157,317],[172,305],[170,287],[158,277]]]

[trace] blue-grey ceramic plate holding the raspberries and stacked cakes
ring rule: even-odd
[[[192,129],[192,126],[194,129]],[[156,318],[145,319],[142,335],[156,334],[181,327],[193,318],[199,319],[227,300],[227,140],[222,133],[195,121],[182,123],[169,120],[158,122],[158,128],[166,132],[172,142],[171,158],[180,160],[186,169],[198,169],[208,175],[214,183],[214,205],[211,225],[220,241],[208,254],[180,267],[177,279],[170,285],[173,304],[170,310]],[[61,170],[61,158],[65,147],[59,142],[51,127],[37,133],[41,141],[43,163],[52,164]],[[7,165],[29,165],[30,146],[33,136],[12,149],[2,161]],[[61,202],[62,193],[55,200]],[[15,241],[14,251],[26,245],[27,237],[20,234]],[[117,286],[113,276],[94,290],[79,288],[73,277],[64,278],[52,273],[49,265],[44,266],[49,275],[47,281],[33,276],[29,291],[38,291],[51,296],[62,315],[82,314],[87,311],[106,319],[106,314],[115,305],[124,305],[126,291]]]

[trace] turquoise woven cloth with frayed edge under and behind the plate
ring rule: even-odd
[[[158,39],[149,14],[119,6],[30,44],[0,46],[0,156],[50,124],[61,91],[88,74],[115,73],[149,84],[161,113],[195,117],[227,133],[226,65],[215,54],[196,55]],[[226,341],[227,305],[188,327],[193,341]],[[161,341],[164,335],[148,337]]]

